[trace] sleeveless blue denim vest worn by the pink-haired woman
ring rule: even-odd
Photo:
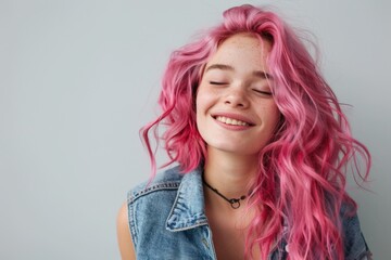
[[[217,259],[201,174],[200,169],[180,174],[175,167],[157,174],[150,185],[142,183],[128,193],[129,227],[138,260]],[[358,218],[345,218],[342,223],[345,259],[369,259]],[[287,259],[287,249],[282,239],[269,259]]]

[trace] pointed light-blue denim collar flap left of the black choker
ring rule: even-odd
[[[166,230],[177,232],[205,224],[202,168],[199,167],[184,174],[166,221]]]

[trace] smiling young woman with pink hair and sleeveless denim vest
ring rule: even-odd
[[[252,5],[175,51],[143,138],[153,179],[117,220],[123,259],[369,259],[345,168],[370,156],[294,31]],[[175,167],[154,174],[159,125]],[[363,170],[358,167],[364,164]]]

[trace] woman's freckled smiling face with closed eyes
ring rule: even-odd
[[[205,65],[197,92],[197,126],[207,150],[256,155],[279,120],[267,74],[270,44],[251,35],[225,40]]]

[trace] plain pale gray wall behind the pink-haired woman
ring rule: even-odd
[[[374,156],[373,193],[349,191],[375,258],[389,259],[390,2],[273,2],[317,36]],[[149,174],[138,130],[156,115],[167,56],[241,3],[0,1],[0,259],[119,258],[115,217]]]

